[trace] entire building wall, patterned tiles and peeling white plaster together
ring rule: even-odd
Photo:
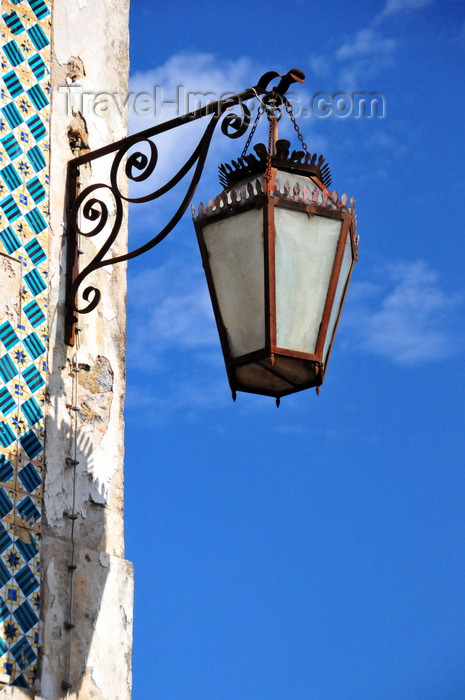
[[[11,698],[123,700],[124,268],[94,277],[102,303],[72,348],[63,316],[67,161],[126,132],[118,112],[84,114],[79,90],[127,89],[128,5],[3,0],[2,15],[0,682]]]

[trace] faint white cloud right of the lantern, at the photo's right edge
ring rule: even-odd
[[[354,283],[350,290],[343,322],[358,347],[400,364],[444,359],[462,347],[452,330],[462,297],[445,292],[426,262],[391,265],[378,277],[384,284]]]

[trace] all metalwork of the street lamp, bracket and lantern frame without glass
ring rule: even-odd
[[[198,212],[193,207],[193,218],[202,255],[207,283],[213,304],[213,310],[229,384],[233,398],[236,391],[273,396],[279,405],[280,398],[288,394],[315,387],[317,393],[323,383],[334,334],[339,322],[347,287],[352,274],[353,264],[357,259],[358,237],[356,236],[355,202],[348,202],[346,195],[339,199],[337,192],[331,193],[331,175],[329,166],[323,156],[310,154],[294,118],[286,92],[295,82],[304,82],[302,71],[293,68],[285,75],[275,71],[265,73],[258,83],[241,93],[209,103],[204,107],[172,119],[138,134],[121,139],[109,146],[93,152],[83,153],[73,158],[68,164],[67,174],[67,277],[66,277],[66,311],[65,342],[74,345],[78,328],[77,314],[93,311],[100,299],[100,290],[88,284],[81,291],[89,275],[101,268],[125,262],[138,257],[158,245],[173,230],[192,201],[199,183],[212,136],[218,124],[221,131],[229,138],[243,136],[252,123],[251,111],[247,101],[256,99],[259,109],[250,130],[246,145],[237,161],[232,166],[220,166],[220,183],[223,192],[210,200],[205,207],[202,203]],[[269,87],[270,83],[278,83]],[[231,111],[239,107],[241,114]],[[289,152],[289,141],[278,139],[277,122],[283,110],[288,112],[303,150]],[[255,129],[261,116],[266,113],[269,121],[268,146],[254,146],[256,155],[247,153]],[[158,149],[155,138],[195,120],[210,117],[209,122],[192,154],[179,168],[178,172],[161,187],[141,197],[129,196],[127,183],[143,182],[155,171],[158,162]],[[146,153],[148,149],[148,155]],[[92,166],[100,159],[107,161],[107,181],[83,186],[81,168]],[[113,244],[124,220],[126,203],[144,203],[159,199],[187,178],[190,180],[176,212],[159,233],[144,245],[123,254],[118,254]],[[291,185],[279,182],[284,174],[291,175]],[[124,177],[124,185],[120,182]],[[300,178],[300,181],[299,181]],[[234,354],[231,351],[227,324],[222,315],[215,289],[215,282],[210,267],[210,254],[204,238],[204,228],[212,222],[218,222],[258,210],[262,216],[261,236],[263,236],[263,253],[260,260],[264,265],[264,342],[257,349]],[[315,221],[333,221],[340,224],[334,258],[328,268],[328,286],[321,287],[323,295],[320,302],[321,318],[317,316],[314,331],[316,343],[312,349],[285,347],[278,342],[277,333],[277,282],[276,282],[276,226],[277,211],[299,212],[304,219]],[[305,216],[306,215],[306,216]],[[300,225],[300,224],[299,224]],[[318,224],[320,225],[320,224]],[[325,224],[327,225],[327,224]],[[100,235],[101,234],[101,235]],[[91,252],[87,246],[86,255],[90,261],[80,268],[80,250],[86,238],[98,237],[100,248]],[[105,238],[106,237],[106,238]],[[307,236],[305,237],[308,240]],[[103,240],[103,243],[101,243]],[[332,239],[334,241],[334,237]],[[228,239],[229,241],[229,239]],[[229,245],[229,242],[228,242]],[[299,249],[300,250],[300,249]],[[329,250],[329,249],[328,249]],[[299,253],[300,255],[300,253]],[[85,256],[84,256],[85,257]],[[315,261],[318,258],[315,256]],[[317,262],[317,264],[319,264]],[[342,273],[342,269],[344,272]],[[307,273],[305,273],[307,274]],[[81,296],[84,304],[78,302]],[[295,298],[294,296],[292,297]],[[292,302],[291,302],[292,303]],[[287,309],[286,305],[286,309]],[[287,313],[287,311],[286,311]],[[299,316],[300,318],[300,316]],[[318,328],[316,331],[315,329]],[[254,375],[255,373],[255,375]],[[256,380],[262,374],[263,381]],[[254,376],[252,376],[254,375]],[[255,382],[255,384],[254,384]]]

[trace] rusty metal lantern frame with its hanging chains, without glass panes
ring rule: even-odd
[[[210,200],[207,206],[201,202],[198,211],[193,207],[192,213],[233,399],[237,391],[245,391],[272,396],[279,405],[281,397],[304,389],[315,387],[320,393],[353,265],[358,258],[358,236],[354,199],[351,198],[349,202],[347,196],[342,195],[339,200],[337,192],[329,191],[329,165],[323,156],[308,152],[289,101],[286,97],[280,99],[276,95],[268,95],[263,105],[263,112],[269,120],[268,146],[259,143],[254,146],[256,155],[247,155],[249,137],[241,157],[232,161],[232,165],[222,164],[219,167],[223,192],[215,200]],[[278,139],[277,124],[284,108],[291,117],[304,150],[290,151],[290,142]],[[205,228],[230,217],[236,217],[234,221],[237,220],[237,226],[240,226],[237,217],[254,210],[260,212],[262,218],[259,228],[263,235],[264,259],[263,342],[251,352],[233,352],[228,322],[221,308],[224,299],[220,303]],[[293,345],[285,347],[278,342],[275,226],[278,210],[301,212],[308,219],[322,217],[340,222],[313,351],[308,348],[299,350]],[[341,275],[345,258],[350,260],[347,277]],[[338,292],[339,300],[336,299]],[[337,312],[335,315],[334,309]]]

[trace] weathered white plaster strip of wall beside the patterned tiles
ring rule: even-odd
[[[80,319],[75,348],[63,343],[66,164],[68,131],[94,150],[126,134],[126,119],[92,111],[70,114],[65,86],[87,93],[123,93],[128,80],[128,0],[55,0],[52,15],[51,247],[49,406],[42,542],[43,630],[40,678],[34,693],[9,689],[5,697],[127,700],[131,697],[132,566],[124,559],[123,401],[125,388],[124,266],[96,277],[103,304]],[[67,81],[68,77],[68,81]],[[59,89],[61,88],[61,90]],[[85,182],[99,181],[98,166]],[[93,244],[92,244],[93,245]],[[126,227],[118,243],[126,246]],[[94,278],[95,279],[95,278]],[[78,377],[77,431],[73,429],[71,363]],[[77,444],[73,622],[70,616],[73,470],[65,458]],[[70,661],[70,663],[68,663]],[[71,688],[62,689],[69,680]],[[8,694],[9,693],[9,694]]]

